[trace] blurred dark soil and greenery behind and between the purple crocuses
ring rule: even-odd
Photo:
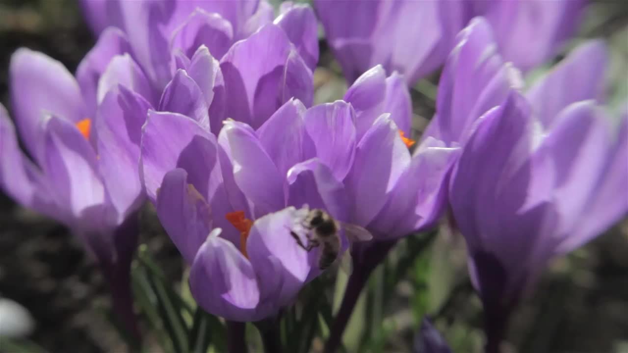
[[[628,1],[591,2],[569,47],[585,38],[607,41],[612,58],[609,106],[616,111],[628,97]],[[0,102],[10,114],[8,65],[16,48],[40,50],[73,72],[93,44],[75,1],[0,0]],[[342,97],[346,85],[326,43],[320,45],[315,100],[326,102]],[[437,84],[435,74],[411,92],[415,137],[433,114]],[[387,283],[393,288],[387,288],[385,300],[369,296],[362,301],[348,329],[348,347],[407,352],[420,318],[431,313],[454,352],[479,352],[481,308],[466,278],[462,239],[443,230],[430,240],[429,251],[414,253],[413,246],[425,239],[401,242],[376,271],[373,281],[380,285],[387,283],[382,278],[391,267],[399,276]],[[143,211],[141,242],[166,278],[178,285],[183,271],[180,256],[150,209]],[[0,297],[30,312],[32,322],[27,324],[32,330],[26,338],[31,352],[126,350],[106,318],[107,289],[89,254],[65,227],[18,207],[1,192]],[[0,322],[8,313],[8,307],[0,305]],[[365,327],[373,317],[381,320]],[[376,334],[365,335],[367,329]],[[508,342],[510,352],[520,353],[628,353],[627,220],[551,264],[533,296],[517,310]],[[160,351],[156,344],[148,347],[149,352]],[[317,350],[316,341],[312,349]],[[0,351],[15,350],[5,344]]]

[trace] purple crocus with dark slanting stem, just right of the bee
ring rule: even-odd
[[[354,271],[325,352],[336,350],[362,287],[389,249],[401,237],[428,229],[441,217],[448,174],[459,152],[436,138],[425,139],[409,151],[414,141],[409,139],[408,89],[400,75],[386,77],[379,65],[355,80],[344,99],[355,108],[355,119],[342,129],[323,126],[317,155],[332,156],[328,163],[352,160],[349,170],[337,175],[347,188],[349,222],[365,227],[374,239],[356,243],[351,251]],[[344,133],[326,137],[335,130]]]

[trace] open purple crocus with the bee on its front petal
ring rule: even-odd
[[[234,321],[271,317],[320,273],[320,249],[306,252],[290,230],[303,222],[305,204],[348,219],[346,191],[335,175],[351,161],[326,163],[331,156],[317,156],[310,136],[322,134],[320,122],[352,124],[349,104],[330,108],[306,110],[292,99],[257,131],[226,121],[219,138],[182,114],[149,112],[146,192],[192,266],[190,288],[208,312]]]

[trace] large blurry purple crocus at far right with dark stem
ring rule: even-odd
[[[626,214],[628,121],[613,129],[596,106],[606,60],[599,41],[522,95],[484,19],[459,39],[426,135],[463,146],[450,205],[484,303],[487,352],[497,352],[509,313],[546,263]]]

